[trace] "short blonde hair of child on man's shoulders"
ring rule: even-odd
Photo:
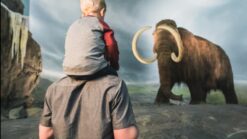
[[[99,12],[101,9],[106,10],[105,0],[80,0],[81,11],[83,13],[95,13]]]

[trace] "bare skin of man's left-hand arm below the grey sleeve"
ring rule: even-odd
[[[53,139],[53,129],[51,127],[46,127],[39,125],[39,139]]]

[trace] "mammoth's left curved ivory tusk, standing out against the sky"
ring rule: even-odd
[[[143,58],[143,57],[138,53],[138,51],[137,51],[137,40],[138,40],[138,38],[140,37],[140,35],[141,35],[144,31],[146,31],[146,30],[148,30],[148,29],[150,29],[150,28],[151,28],[150,26],[145,26],[145,27],[142,27],[141,29],[139,29],[139,30],[135,33],[135,35],[134,35],[134,37],[133,37],[133,40],[132,40],[132,51],[133,51],[133,54],[134,54],[135,58],[136,58],[139,62],[141,62],[141,63],[143,63],[143,64],[151,64],[151,63],[153,63],[153,62],[157,59],[157,54],[156,54],[156,53],[154,53],[154,55],[153,55],[152,57],[150,57],[150,58]]]

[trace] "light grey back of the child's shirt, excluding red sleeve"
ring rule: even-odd
[[[84,16],[70,27],[65,39],[64,73],[92,75],[105,68],[103,27],[97,17]]]

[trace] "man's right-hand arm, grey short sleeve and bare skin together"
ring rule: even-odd
[[[138,129],[128,89],[124,81],[120,83],[120,88],[112,103],[112,125],[115,139],[137,139]]]

